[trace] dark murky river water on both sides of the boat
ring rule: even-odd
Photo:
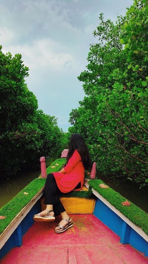
[[[48,159],[46,167],[50,166],[54,160],[55,158]],[[30,181],[38,178],[40,174],[41,169],[34,170],[32,172],[25,170],[20,171],[16,176],[2,178],[0,183],[0,208],[17,195],[17,193],[28,185]],[[120,184],[116,185],[113,182],[110,182],[108,178],[101,176],[98,172],[96,173],[96,178],[104,181],[105,184],[148,213],[148,186],[139,189],[139,184],[129,180],[120,182]]]

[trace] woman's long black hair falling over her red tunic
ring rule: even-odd
[[[77,150],[81,156],[81,161],[85,170],[91,165],[91,160],[89,156],[88,148],[83,140],[83,137],[80,134],[72,134],[69,143],[69,151],[67,154],[67,162],[73,155],[74,151]]]

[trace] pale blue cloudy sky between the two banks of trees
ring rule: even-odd
[[[38,109],[67,132],[69,114],[85,94],[77,77],[86,69],[99,14],[116,21],[133,0],[0,0],[2,52],[22,55],[28,89]]]

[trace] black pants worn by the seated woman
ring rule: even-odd
[[[75,189],[81,188],[81,182],[75,187]],[[44,204],[53,204],[54,215],[57,216],[60,213],[66,211],[62,205],[58,194],[62,193],[56,183],[54,175],[49,173],[45,183],[45,198]]]

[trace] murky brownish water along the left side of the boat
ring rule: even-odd
[[[56,158],[47,159],[46,167],[49,167]],[[34,171],[20,171],[16,176],[1,178],[0,180],[0,208],[8,203],[18,192],[41,174],[41,169]]]

